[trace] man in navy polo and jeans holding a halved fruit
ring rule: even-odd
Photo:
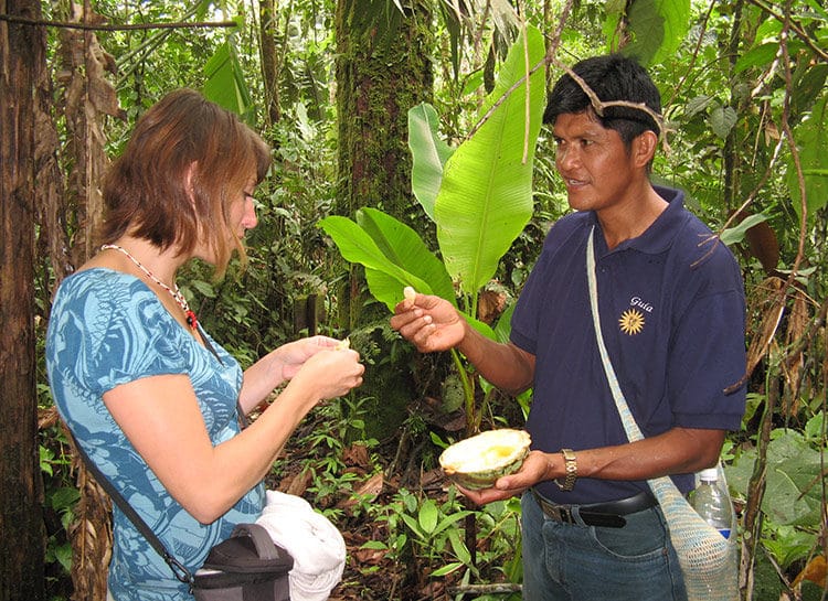
[[[684,599],[664,515],[646,480],[670,474],[682,492],[715,465],[737,429],[745,369],[744,294],[736,261],[683,207],[678,190],[650,183],[660,97],[620,55],[566,74],[544,121],[574,213],[550,230],[499,344],[452,308],[417,294],[391,324],[420,351],[456,347],[480,375],[518,394],[533,388],[532,451],[495,487],[464,491],[478,504],[522,494],[523,598]],[[646,105],[649,110],[635,107]],[[628,442],[593,325],[586,248],[594,230],[601,330],[645,439]]]

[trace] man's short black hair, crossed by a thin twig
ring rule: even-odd
[[[657,115],[661,114],[661,95],[647,71],[635,58],[622,54],[593,56],[576,63],[572,71],[604,103],[624,100],[644,104]],[[554,124],[559,115],[586,110],[593,110],[590,97],[565,73],[549,94],[543,122]],[[604,108],[603,117],[596,117],[605,128],[617,131],[627,147],[648,129],[655,131],[656,136],[661,132],[655,119],[641,109],[612,106]]]

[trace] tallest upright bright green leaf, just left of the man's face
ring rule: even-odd
[[[543,37],[528,29],[529,66],[544,54]],[[509,89],[527,73],[524,37],[516,42],[480,115],[488,117],[446,162],[435,201],[437,239],[452,277],[469,294],[493,276],[498,262],[532,216],[532,162],[545,99],[543,69]],[[489,114],[489,108],[500,103]],[[528,142],[527,160],[524,140]]]

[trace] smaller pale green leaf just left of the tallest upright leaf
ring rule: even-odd
[[[413,160],[412,191],[434,221],[434,201],[443,181],[443,165],[454,149],[439,137],[439,119],[432,105],[422,103],[408,110],[408,148]]]

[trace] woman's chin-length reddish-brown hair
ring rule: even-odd
[[[227,224],[230,204],[269,167],[270,149],[236,115],[192,89],[172,92],[138,119],[104,178],[103,242],[130,234],[182,254],[203,242],[221,276],[234,249],[246,260]]]

